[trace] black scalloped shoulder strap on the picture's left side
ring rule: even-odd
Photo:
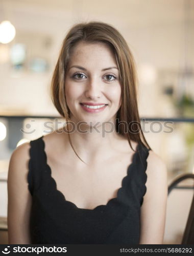
[[[28,172],[28,188],[31,195],[39,187],[42,178],[41,170],[44,167],[43,157],[43,143],[42,137],[30,141],[30,160],[29,160],[29,172]]]

